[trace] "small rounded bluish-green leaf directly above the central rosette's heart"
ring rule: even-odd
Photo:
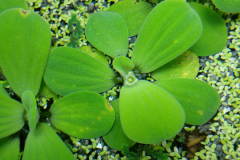
[[[87,22],[86,36],[94,47],[113,58],[127,55],[128,28],[118,13],[93,13]]]

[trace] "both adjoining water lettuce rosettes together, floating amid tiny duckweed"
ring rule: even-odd
[[[0,64],[22,102],[1,88],[1,158],[17,159],[19,130],[25,124],[24,160],[74,159],[55,129],[78,138],[103,136],[110,147],[122,150],[124,144],[170,139],[184,123],[201,125],[217,112],[218,93],[194,79],[198,56],[219,52],[226,44],[224,20],[213,10],[185,0],[165,0],[154,8],[123,0],[88,19],[87,39],[99,50],[93,52],[91,47],[50,50],[47,23],[22,8],[0,14]],[[76,21],[73,38],[82,34],[79,27]],[[128,54],[128,37],[134,35],[137,41]],[[147,81],[146,75],[154,80]],[[47,112],[39,110],[35,98],[42,81],[63,96]],[[119,99],[110,105],[100,93],[116,85],[121,86]]]

